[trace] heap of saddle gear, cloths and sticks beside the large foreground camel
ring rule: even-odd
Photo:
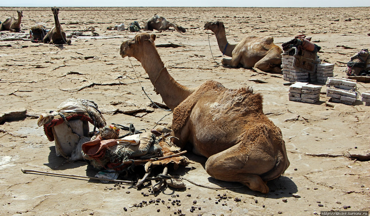
[[[88,122],[94,125],[94,131],[89,132]],[[100,171],[95,177],[117,179],[119,174],[129,173],[142,165],[145,175],[137,186],[151,179],[155,191],[164,180],[168,180],[167,184],[172,187],[185,187],[184,183],[172,181],[171,176],[167,176],[168,168],[176,170],[179,165],[186,166],[190,161],[180,156],[186,151],[180,151],[173,144],[171,139],[174,137],[169,136],[171,130],[164,126],[142,132],[132,124],[129,127],[107,125],[97,104],[75,98],[62,102],[56,111],[41,114],[37,124],[44,127],[48,140],[55,142],[57,156],[63,156],[68,161],[87,161]],[[100,129],[95,132],[96,128]],[[128,133],[120,136],[122,130]],[[148,177],[152,169],[159,165],[163,167],[161,177]]]

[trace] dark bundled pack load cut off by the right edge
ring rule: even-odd
[[[351,57],[347,63],[346,74],[349,76],[370,76],[370,55],[363,49]]]

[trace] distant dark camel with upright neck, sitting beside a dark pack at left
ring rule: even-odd
[[[67,38],[65,37],[65,32],[63,31],[62,26],[59,23],[59,8],[52,7],[51,11],[53,11],[54,14],[55,26],[50,31],[48,31],[43,39],[43,42],[49,44],[71,44],[71,40],[67,40]]]

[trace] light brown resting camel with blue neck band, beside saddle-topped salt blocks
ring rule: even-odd
[[[222,64],[233,68],[241,64],[245,68],[256,67],[266,72],[282,72],[280,54],[283,51],[273,43],[272,37],[247,36],[237,44],[229,44],[223,22],[208,22],[204,25],[204,30],[213,31],[222,54],[232,57],[231,59],[223,58]]]

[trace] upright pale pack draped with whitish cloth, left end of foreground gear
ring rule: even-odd
[[[70,98],[62,102],[55,111],[41,114],[37,125],[44,126],[48,140],[55,142],[57,156],[78,161],[83,159],[82,144],[91,139],[88,122],[95,128],[106,125],[94,101]]]

